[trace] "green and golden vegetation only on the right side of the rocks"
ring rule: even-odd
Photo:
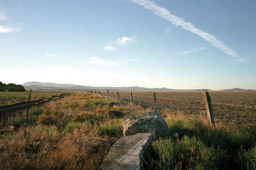
[[[165,120],[170,136],[153,142],[148,169],[256,169],[256,136],[246,129],[185,115]]]

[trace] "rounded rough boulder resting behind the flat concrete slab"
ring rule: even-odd
[[[124,136],[136,133],[151,132],[156,137],[169,135],[169,127],[156,112],[146,112],[122,122]]]

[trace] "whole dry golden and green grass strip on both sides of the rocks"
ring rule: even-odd
[[[57,106],[57,107],[56,107]],[[121,123],[149,108],[95,94],[76,93],[48,102],[0,135],[0,169],[99,169],[123,136]],[[145,166],[152,170],[256,169],[256,136],[246,129],[160,111],[170,135],[156,139]]]

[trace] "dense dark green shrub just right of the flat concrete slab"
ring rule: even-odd
[[[225,169],[227,156],[220,149],[208,147],[195,137],[158,139],[152,143],[151,157],[158,170],[170,169]],[[151,158],[152,159],[152,158]]]

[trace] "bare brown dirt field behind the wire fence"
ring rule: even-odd
[[[96,91],[97,92],[97,91]],[[114,98],[130,102],[130,92],[114,91]],[[101,91],[106,96],[107,91]],[[143,107],[154,107],[152,91],[133,91],[133,102]],[[209,91],[215,121],[234,123],[256,129],[256,92],[255,91]],[[112,98],[112,91],[109,91]],[[202,91],[164,91],[156,92],[157,109],[191,115],[204,115],[204,96]]]

